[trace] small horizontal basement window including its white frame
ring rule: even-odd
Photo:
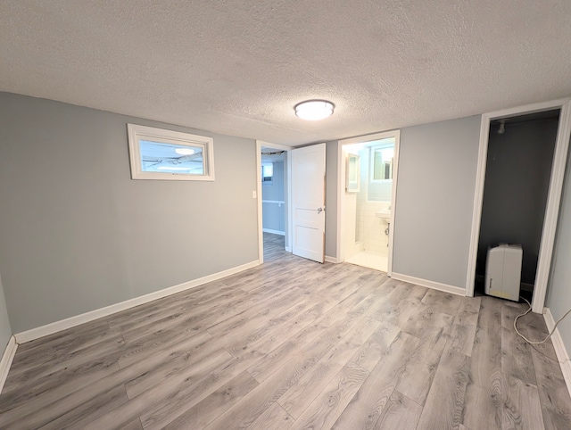
[[[131,178],[214,180],[213,139],[127,124]]]

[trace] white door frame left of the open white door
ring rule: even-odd
[[[292,163],[291,163],[291,146],[270,144],[263,140],[256,140],[256,195],[258,203],[258,260],[264,262],[264,232],[263,232],[263,212],[261,203],[261,148],[277,149],[285,151],[284,170],[287,172],[287,179],[284,181],[285,190],[285,251],[292,252]]]

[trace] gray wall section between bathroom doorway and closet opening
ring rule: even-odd
[[[401,129],[393,271],[466,287],[480,116]]]

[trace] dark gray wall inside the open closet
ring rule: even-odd
[[[510,119],[514,120],[514,119]],[[489,246],[521,244],[521,281],[534,285],[559,117],[508,123],[490,131],[476,272]]]

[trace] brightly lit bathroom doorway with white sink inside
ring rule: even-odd
[[[338,260],[390,275],[400,132],[340,142]]]

